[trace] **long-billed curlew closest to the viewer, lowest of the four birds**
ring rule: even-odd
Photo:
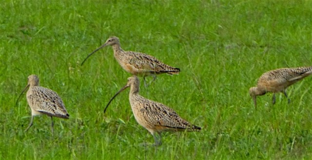
[[[195,131],[201,129],[199,126],[190,124],[182,119],[173,109],[139,95],[139,83],[137,76],[129,77],[127,85],[120,89],[108,102],[104,109],[104,113],[117,94],[130,87],[129,101],[135,119],[138,124],[142,125],[153,135],[156,146],[161,145],[160,133],[162,131]],[[156,138],[156,132],[159,134],[160,141]]]

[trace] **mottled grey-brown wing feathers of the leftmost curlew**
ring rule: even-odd
[[[50,116],[69,118],[64,103],[56,92],[40,86],[31,89],[31,93],[27,94],[27,100],[32,108]]]

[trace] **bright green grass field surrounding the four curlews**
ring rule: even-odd
[[[0,2],[0,160],[311,160],[312,77],[258,98],[265,71],[309,66],[311,0],[3,0]],[[172,107],[200,132],[164,132],[160,147],[137,124],[129,89],[103,109],[130,73],[111,47],[148,53],[181,69],[140,94]],[[27,76],[63,99],[70,119],[35,117]],[[152,77],[147,78],[149,81]],[[142,78],[140,78],[142,81]]]

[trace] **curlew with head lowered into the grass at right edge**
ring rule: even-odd
[[[249,89],[250,96],[254,100],[254,106],[257,106],[256,96],[264,95],[266,92],[273,92],[273,104],[275,104],[275,93],[277,92],[283,92],[288,99],[288,103],[290,103],[290,99],[286,94],[287,87],[307,77],[311,73],[312,66],[281,68],[263,73],[258,80],[257,87]]]

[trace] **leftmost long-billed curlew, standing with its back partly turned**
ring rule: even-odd
[[[52,117],[59,117],[59,118],[69,118],[69,114],[65,109],[65,105],[59,95],[51,90],[44,87],[39,86],[39,78],[37,75],[30,75],[28,76],[28,84],[20,93],[22,93],[27,89],[27,102],[29,107],[31,108],[31,120],[30,124],[26,128],[25,132],[33,125],[33,120],[36,115],[46,114],[51,117],[52,124],[51,124],[51,131],[53,134],[53,119]],[[16,105],[20,99],[16,101]]]

